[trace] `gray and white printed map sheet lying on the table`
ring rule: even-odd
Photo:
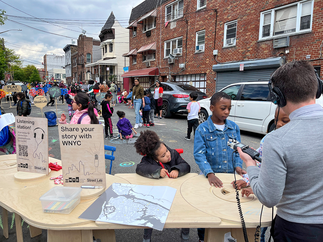
[[[78,218],[162,230],[176,189],[113,183]]]

